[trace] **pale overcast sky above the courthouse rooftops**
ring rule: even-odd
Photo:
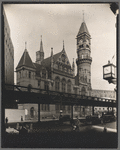
[[[76,35],[86,22],[91,34],[91,83],[93,89],[114,90],[115,85],[103,80],[103,65],[116,56],[116,16],[109,4],[5,4],[6,16],[14,46],[14,68],[25,49],[33,62],[40,49],[42,35],[45,58],[65,50],[72,64],[77,58]],[[116,57],[112,59],[116,65]],[[77,66],[75,68],[77,73]],[[15,75],[16,76],[16,75]],[[16,78],[15,78],[16,80]]]

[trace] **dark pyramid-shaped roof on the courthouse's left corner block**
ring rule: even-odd
[[[18,65],[17,65],[16,69],[21,67],[21,66],[27,66],[27,67],[30,67],[30,68],[35,68],[35,66],[34,66],[34,64],[33,64],[33,62],[32,62],[32,60],[31,60],[31,58],[30,58],[30,56],[29,56],[26,49],[25,49]]]

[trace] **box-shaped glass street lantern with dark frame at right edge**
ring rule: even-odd
[[[116,84],[116,66],[108,61],[107,65],[103,66],[103,79],[109,83]]]

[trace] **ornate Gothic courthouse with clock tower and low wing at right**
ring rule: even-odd
[[[17,85],[40,88],[64,93],[73,93],[96,97],[115,98],[114,91],[93,90],[91,86],[91,35],[86,23],[82,22],[77,34],[77,75],[75,76],[75,63],[70,65],[67,50],[64,46],[61,51],[54,54],[51,48],[51,56],[44,58],[44,48],[41,38],[40,50],[36,52],[36,62],[25,48],[24,53],[16,67]],[[37,104],[18,104],[18,109],[25,110],[26,119],[38,119]],[[60,104],[40,105],[40,119],[60,115]],[[71,115],[70,106],[62,106],[63,115]],[[74,106],[73,116],[85,116],[92,113],[91,106]]]

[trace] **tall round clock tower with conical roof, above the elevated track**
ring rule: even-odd
[[[91,95],[91,36],[83,21],[77,34],[77,76],[81,95]]]

